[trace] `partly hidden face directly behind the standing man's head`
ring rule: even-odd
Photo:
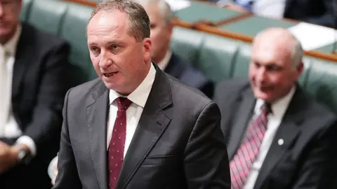
[[[169,50],[173,24],[164,22],[156,3],[147,4],[145,11],[151,23],[152,60],[159,63]]]

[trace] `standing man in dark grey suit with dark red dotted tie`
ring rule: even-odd
[[[229,189],[218,106],[152,64],[143,7],[99,3],[87,36],[99,78],[66,94],[54,189]]]

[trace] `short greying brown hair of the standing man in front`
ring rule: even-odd
[[[91,13],[88,23],[100,10],[120,10],[128,15],[128,34],[134,36],[136,41],[150,38],[150,19],[143,6],[131,0],[105,0],[98,3]]]

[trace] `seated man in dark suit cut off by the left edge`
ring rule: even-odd
[[[70,47],[21,24],[21,3],[0,3],[0,188],[51,188]]]

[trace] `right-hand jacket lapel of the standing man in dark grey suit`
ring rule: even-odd
[[[134,174],[136,174],[143,160],[150,153],[154,144],[169,125],[171,119],[164,114],[164,109],[172,104],[169,80],[156,67],[157,73],[152,90],[147,98],[142,116],[126,156],[117,181],[118,189],[126,188]]]

